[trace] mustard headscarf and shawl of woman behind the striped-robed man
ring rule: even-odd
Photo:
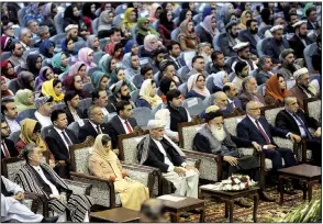
[[[21,133],[20,133],[19,137],[25,144],[35,143],[35,144],[37,144],[37,146],[40,148],[42,148],[43,152],[47,152],[48,150],[47,145],[41,135],[38,135],[38,138],[36,142],[34,142],[32,139],[32,134],[33,134],[33,131],[35,128],[36,123],[37,123],[37,121],[32,120],[32,119],[22,120],[22,122],[20,123],[21,124]]]

